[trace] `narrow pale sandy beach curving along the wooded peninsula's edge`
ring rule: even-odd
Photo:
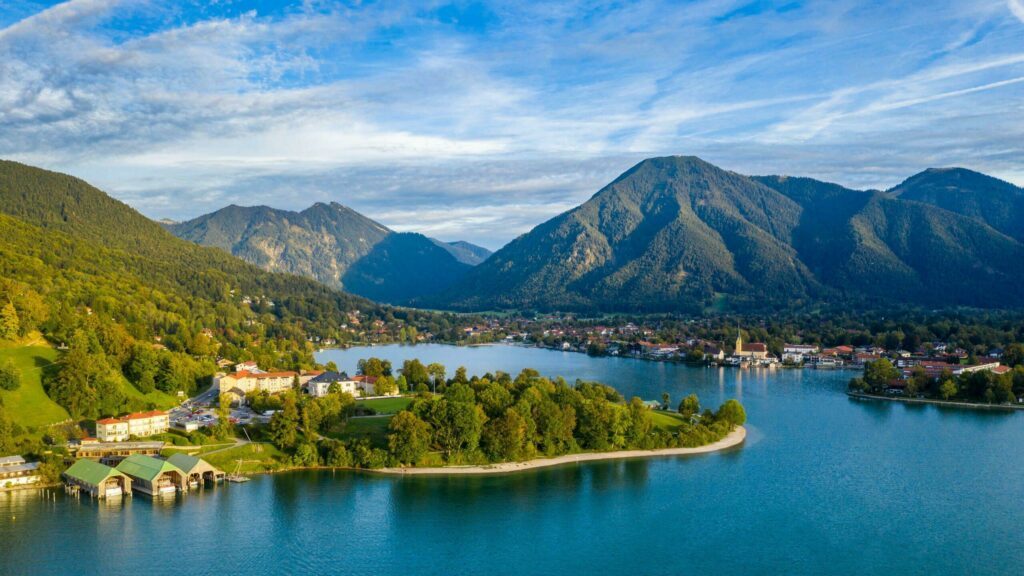
[[[381,468],[369,470],[389,475],[486,475],[486,474],[510,474],[560,464],[571,464],[574,462],[589,462],[593,460],[617,460],[622,458],[653,458],[657,456],[687,456],[691,454],[707,454],[732,448],[743,443],[746,438],[746,428],[736,426],[736,429],[729,433],[729,436],[722,440],[700,446],[698,448],[666,448],[664,450],[620,450],[616,452],[585,452],[582,454],[566,454],[556,458],[538,458],[526,462],[502,462],[500,464],[487,464],[483,466],[440,466],[433,468]]]

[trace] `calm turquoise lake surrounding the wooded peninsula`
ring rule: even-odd
[[[529,366],[627,396],[739,398],[729,452],[487,478],[258,477],[170,502],[0,494],[0,574],[1020,574],[1020,414],[864,403],[849,373],[740,372],[488,346],[372,353]]]

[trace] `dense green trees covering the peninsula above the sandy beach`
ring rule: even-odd
[[[407,368],[416,364],[407,363]],[[370,364],[370,363],[368,363]],[[409,379],[402,370],[401,376]],[[429,373],[429,372],[428,372]],[[536,370],[512,378],[497,372],[466,378],[465,369],[443,380],[437,393],[423,389],[390,420],[386,445],[366,439],[324,439],[350,414],[343,393],[309,399],[288,393],[269,425],[271,441],[295,465],[383,467],[425,463],[521,461],[580,451],[697,447],[714,443],[745,421],[735,400],[718,411],[700,411],[696,397],[680,405],[678,424],[656,425],[638,398],[626,402],[610,386]],[[327,404],[327,405],[325,405]]]

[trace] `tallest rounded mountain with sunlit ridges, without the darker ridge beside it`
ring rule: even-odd
[[[641,162],[582,206],[492,255],[443,297],[457,307],[699,311],[719,293],[818,290],[788,245],[800,208],[696,158]]]

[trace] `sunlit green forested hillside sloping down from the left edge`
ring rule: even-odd
[[[264,272],[177,239],[78,178],[2,161],[0,302],[13,304],[4,316],[15,336],[39,330],[70,346],[45,384],[76,418],[194,392],[216,356],[310,367],[307,338],[344,339],[353,318],[397,330],[396,317],[415,326],[436,316]]]

